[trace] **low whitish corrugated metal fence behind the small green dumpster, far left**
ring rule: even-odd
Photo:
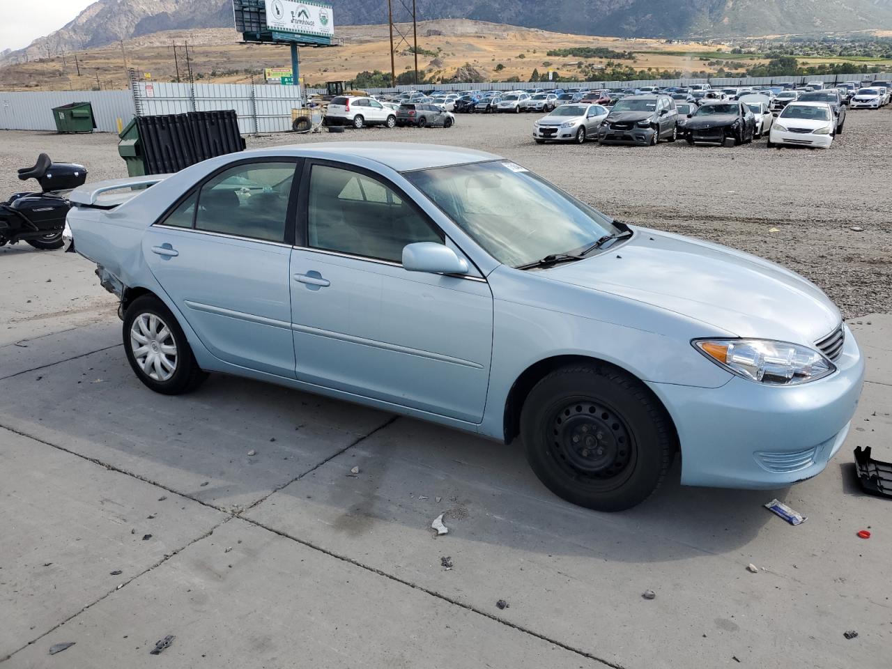
[[[54,107],[87,102],[93,104],[97,130],[117,132],[118,119],[127,125],[133,118],[130,91],[0,91],[0,129],[54,130]]]

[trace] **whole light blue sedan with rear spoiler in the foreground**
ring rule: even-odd
[[[153,185],[120,193],[134,184]],[[278,146],[71,200],[153,391],[222,372],[519,436],[584,507],[647,499],[676,453],[690,485],[817,475],[861,392],[814,284],[626,226],[490,153]]]

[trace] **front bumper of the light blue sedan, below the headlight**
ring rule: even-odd
[[[769,490],[820,474],[846,439],[863,383],[861,351],[844,329],[837,371],[808,384],[648,383],[678,431],[681,483]]]

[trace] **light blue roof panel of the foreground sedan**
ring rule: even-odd
[[[468,162],[497,161],[501,156],[494,153],[465,149],[458,146],[411,144],[409,142],[326,142],[301,144],[262,149],[244,153],[275,153],[277,155],[307,156],[328,160],[350,161],[365,158],[376,161],[398,172],[411,169],[428,169],[463,165]]]

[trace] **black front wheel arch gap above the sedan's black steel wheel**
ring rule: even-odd
[[[668,409],[666,409],[663,401],[657,397],[657,394],[651,391],[647,384],[641,381],[638,376],[632,374],[628,369],[607,362],[607,360],[584,355],[558,355],[541,359],[538,362],[533,363],[533,365],[530,365],[530,367],[524,369],[520,376],[517,376],[514,384],[511,385],[511,389],[508,391],[508,398],[505,401],[505,410],[503,414],[505,443],[514,441],[520,434],[521,410],[524,408],[524,401],[526,401],[526,398],[533,390],[533,387],[545,376],[548,376],[558,369],[579,366],[606,368],[619,372],[625,376],[629,376],[635,383],[639,384],[643,392],[648,394],[649,399],[653,401],[665,415],[667,425],[671,427],[675,450],[679,450],[678,430],[675,427],[675,422]]]

